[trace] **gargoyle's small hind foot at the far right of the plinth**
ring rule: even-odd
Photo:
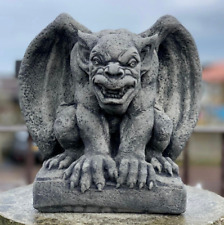
[[[154,169],[161,173],[162,171],[170,176],[179,175],[179,167],[178,165],[172,161],[169,157],[156,156],[152,157],[151,164]]]

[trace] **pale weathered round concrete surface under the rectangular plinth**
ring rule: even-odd
[[[32,185],[0,194],[0,225],[5,224],[224,224],[224,198],[186,186],[187,210],[179,216],[127,213],[39,213],[32,206]]]

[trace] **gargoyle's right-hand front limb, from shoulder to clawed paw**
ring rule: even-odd
[[[150,139],[153,127],[153,109],[135,116],[125,116],[121,124],[121,143],[116,156],[119,177],[117,186],[127,183],[130,188],[145,184],[153,187],[155,172],[150,163],[145,161],[145,147]]]

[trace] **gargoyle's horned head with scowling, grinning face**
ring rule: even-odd
[[[91,49],[88,73],[100,107],[111,114],[125,113],[141,88],[141,53],[151,40],[125,30],[79,36]]]

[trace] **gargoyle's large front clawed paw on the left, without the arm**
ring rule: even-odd
[[[105,186],[105,173],[110,179],[117,178],[116,163],[108,155],[83,155],[73,162],[64,172],[69,179],[70,188],[80,186],[81,192],[87,191],[94,183],[99,191]]]

